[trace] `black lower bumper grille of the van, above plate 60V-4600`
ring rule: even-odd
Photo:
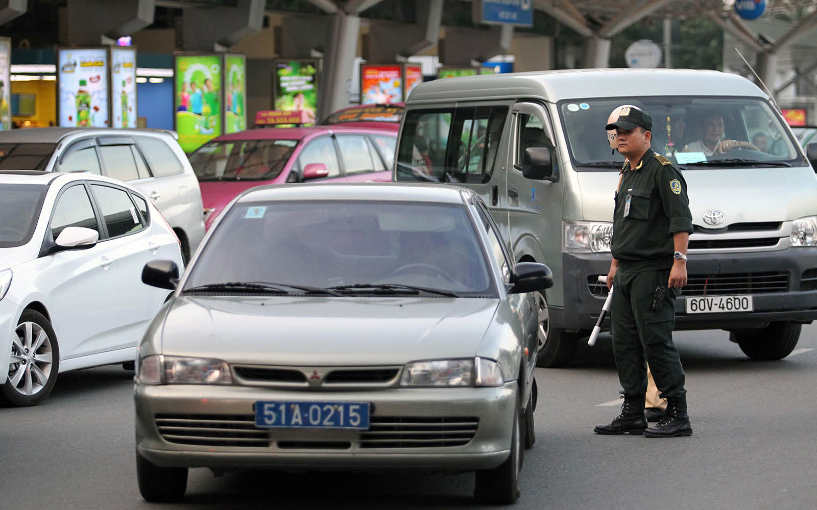
[[[808,285],[817,289],[817,268]],[[806,271],[808,273],[808,271]],[[806,285],[806,273],[803,273]],[[598,282],[598,275],[587,277],[587,290],[592,295],[605,297],[607,286]],[[733,273],[733,274],[693,274],[687,278],[683,295],[734,295],[734,294],[767,294],[770,292],[788,291],[788,273]]]

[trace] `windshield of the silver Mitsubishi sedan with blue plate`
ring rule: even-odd
[[[252,283],[342,295],[493,297],[481,246],[464,206],[241,203],[221,220],[183,291]]]

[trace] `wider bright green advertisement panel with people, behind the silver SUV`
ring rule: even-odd
[[[174,126],[185,153],[221,135],[221,56],[175,55]]]

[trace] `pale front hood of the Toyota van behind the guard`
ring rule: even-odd
[[[817,180],[808,166],[708,168],[683,174],[692,223],[702,227],[708,226],[703,213],[710,209],[723,212],[724,224],[796,220],[817,210]],[[578,181],[584,217],[575,220],[611,221],[618,172],[578,172]]]

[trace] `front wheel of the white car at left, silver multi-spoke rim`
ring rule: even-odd
[[[11,406],[36,406],[51,393],[60,368],[60,348],[51,322],[42,313],[25,310],[11,337],[8,379],[0,387]]]

